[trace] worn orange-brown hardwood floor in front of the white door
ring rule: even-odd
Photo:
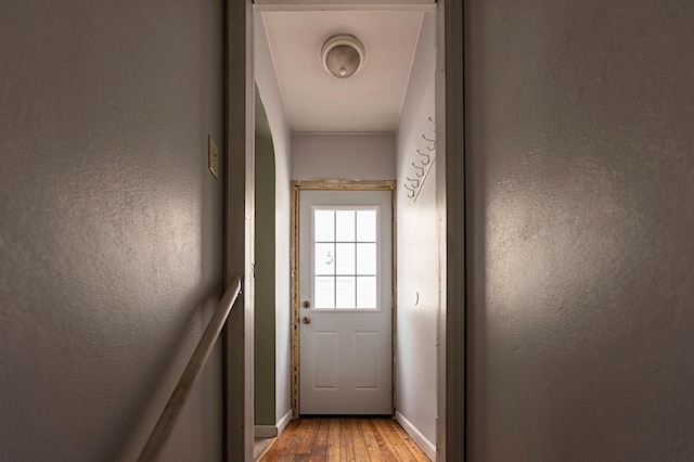
[[[394,419],[301,418],[287,425],[259,462],[428,460]]]

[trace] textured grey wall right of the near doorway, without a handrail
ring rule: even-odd
[[[694,459],[694,7],[465,2],[468,455]]]

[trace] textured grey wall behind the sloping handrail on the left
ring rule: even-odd
[[[219,0],[0,4],[0,459],[134,460],[211,316],[222,26]],[[163,460],[220,460],[220,364]]]

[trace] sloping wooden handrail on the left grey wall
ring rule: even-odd
[[[205,333],[200,339],[195,351],[193,351],[193,356],[188,362],[185,370],[181,374],[181,378],[179,378],[178,384],[176,384],[176,388],[166,403],[164,411],[162,411],[162,415],[159,415],[159,420],[152,431],[150,439],[147,439],[146,445],[144,445],[144,449],[142,449],[140,457],[138,458],[138,462],[156,461],[159,452],[164,449],[164,445],[171,433],[171,428],[174,428],[174,424],[176,423],[176,420],[190,395],[193,383],[205,365],[205,362],[207,361],[207,358],[209,357],[209,354],[211,352],[213,347],[215,346],[215,343],[229,318],[229,313],[231,312],[240,292],[241,278],[235,275],[231,280],[229,287],[227,287],[227,292],[224,292],[224,295],[221,297],[215,315],[213,315],[213,318],[209,320],[209,324],[207,324]]]

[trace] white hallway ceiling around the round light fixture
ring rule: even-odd
[[[265,24],[284,110],[295,133],[395,132],[424,14],[384,10],[258,10]],[[323,42],[351,34],[365,60],[352,77],[330,75]]]

